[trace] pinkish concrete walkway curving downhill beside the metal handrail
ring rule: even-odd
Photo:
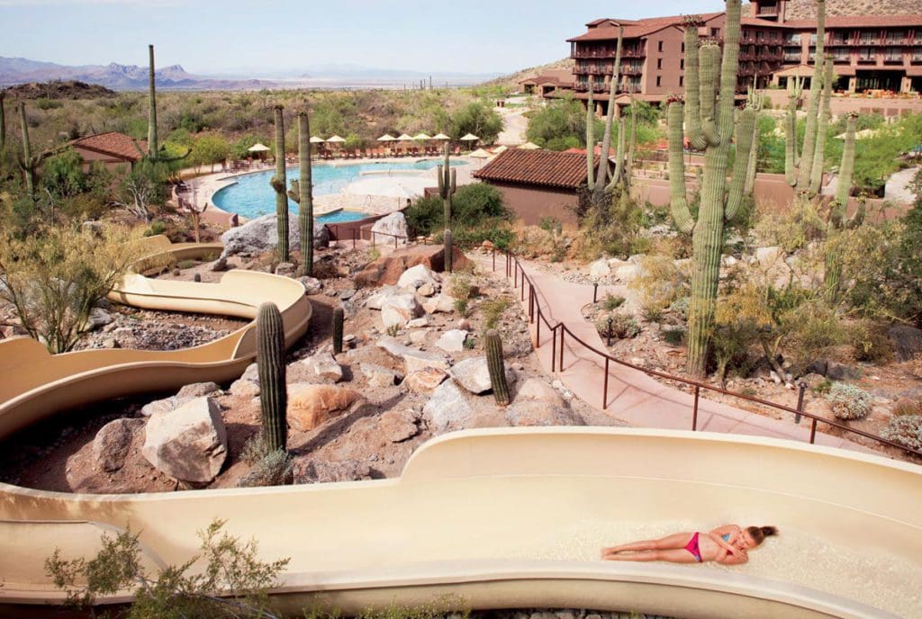
[[[475,262],[486,272],[491,272],[490,255],[473,254]],[[535,295],[542,314],[551,326],[562,322],[567,329],[585,344],[605,351],[605,345],[595,326],[586,321],[582,308],[592,303],[593,288],[561,280],[553,274],[540,273],[527,263],[521,263],[535,286]],[[496,256],[496,276],[505,273],[505,257]],[[521,281],[519,281],[521,286]],[[598,298],[607,292],[614,293],[616,286],[599,286]],[[522,304],[528,311],[528,286]],[[517,298],[522,298],[521,288]],[[538,332],[538,312],[532,325],[532,341]],[[551,354],[554,348],[560,355],[561,330],[554,333],[544,322],[540,325],[540,342],[536,354],[541,364],[550,372]],[[558,357],[559,359],[560,357]],[[632,426],[658,427],[675,430],[691,430],[694,395],[659,382],[643,371],[609,362],[609,390],[603,404],[606,362],[605,358],[580,345],[569,333],[563,338],[563,365],[556,368],[556,376],[585,403],[597,410],[618,417]],[[728,432],[759,437],[787,438],[799,442],[810,441],[810,418],[804,417],[800,425],[794,424],[794,415],[781,412],[786,419],[779,421],[763,415],[727,406],[707,399],[707,391],[701,391],[698,403],[697,429],[709,432]],[[607,408],[603,409],[603,406]],[[821,425],[822,428],[822,425]],[[874,452],[850,440],[836,438],[818,431],[815,442],[827,447]],[[877,452],[879,453],[879,452]],[[880,454],[879,454],[880,455]]]

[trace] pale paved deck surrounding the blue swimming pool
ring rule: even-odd
[[[367,163],[406,163],[408,166],[411,166],[416,161],[428,159],[432,158],[364,158],[337,161],[317,161],[313,162],[313,165],[341,167]],[[456,168],[457,184],[466,185],[474,182],[473,174],[483,165],[483,163],[478,159],[467,157],[453,157],[453,159],[463,160],[469,164],[465,166],[458,166]],[[297,166],[288,167],[297,168]],[[239,172],[215,172],[213,174],[206,174],[204,176],[197,176],[194,179],[190,179],[188,181],[190,184],[195,183],[197,200],[204,201],[208,204],[207,210],[202,215],[202,220],[210,224],[230,227],[233,214],[220,209],[216,204],[214,204],[213,197],[215,193],[218,193],[221,189],[234,184],[236,179],[241,176],[266,172],[272,169],[275,169],[274,166],[264,166]],[[410,171],[410,169],[407,171]],[[435,168],[413,171],[419,171],[417,177],[393,178],[384,174],[384,172],[380,174],[372,173],[362,175],[362,178],[359,181],[349,183],[349,185],[339,193],[315,195],[313,196],[314,215],[326,215],[328,213],[334,213],[338,210],[361,211],[362,213],[370,213],[372,215],[387,215],[389,213],[393,213],[394,211],[399,210],[406,205],[406,198],[400,198],[395,195],[395,192],[399,189],[399,186],[402,185],[404,190],[407,190],[409,193],[422,195],[425,188],[436,187],[438,185]],[[194,172],[195,170],[192,169],[183,170],[183,174],[192,174]],[[290,177],[289,181],[291,181],[292,178],[294,177]],[[241,222],[246,221],[246,217],[243,216],[239,216],[239,219]]]

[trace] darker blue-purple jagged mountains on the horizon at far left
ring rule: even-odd
[[[186,73],[180,64],[161,67],[156,76],[157,88],[165,90],[237,90],[278,86],[276,82],[259,79],[207,79]],[[66,66],[0,56],[0,87],[54,80],[77,80],[113,90],[143,90],[148,88],[148,67],[116,63]]]

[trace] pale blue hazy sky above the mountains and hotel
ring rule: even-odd
[[[569,55],[601,17],[722,10],[720,0],[0,0],[0,56],[58,64],[183,64],[190,73],[349,63],[510,72]]]

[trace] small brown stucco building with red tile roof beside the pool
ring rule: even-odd
[[[510,148],[474,172],[474,178],[500,190],[526,225],[542,217],[575,223],[578,189],[586,181],[585,155]]]

